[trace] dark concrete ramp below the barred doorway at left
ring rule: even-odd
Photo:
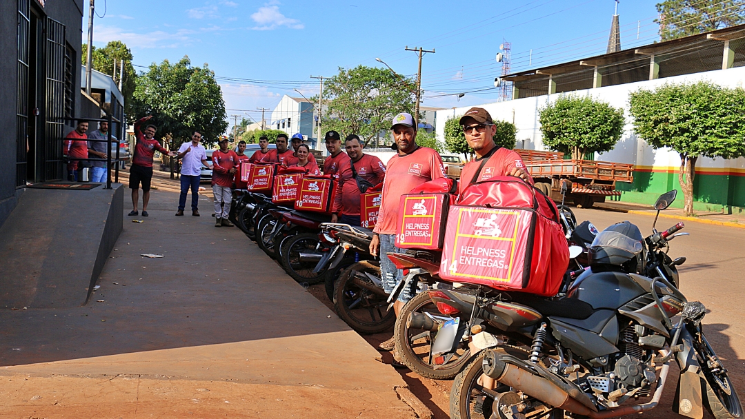
[[[27,188],[0,227],[0,308],[86,303],[121,233],[124,188]]]

